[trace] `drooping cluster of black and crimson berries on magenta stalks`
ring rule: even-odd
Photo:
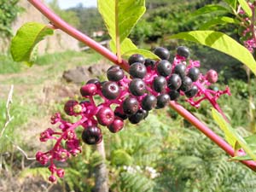
[[[69,100],[64,106],[67,115],[81,117],[77,122],[68,122],[61,119],[60,113],[55,113],[51,124],[59,124],[59,131],[48,128],[40,135],[41,142],[52,139],[55,140],[55,145],[45,153],[36,154],[36,159],[42,165],[49,164],[50,182],[55,182],[55,175],[64,175],[64,170],[57,169],[54,160],[65,161],[79,154],[80,140],[86,144],[102,142],[102,128],[99,125],[116,133],[123,129],[125,119],[131,124],[137,124],[147,118],[150,110],[165,108],[168,102],[178,102],[181,96],[186,96],[185,101],[196,108],[200,102],[208,100],[214,108],[219,109],[218,97],[230,94],[229,88],[210,89],[211,84],[218,80],[218,73],[209,70],[206,75],[201,74],[200,62],[188,61],[188,48],[178,47],[172,63],[169,61],[169,50],[156,48],[154,54],[161,60],[154,61],[145,59],[143,55],[131,55],[129,75],[125,75],[120,67],[113,66],[108,69],[108,81],[90,79],[84,84],[80,89],[83,101]],[[96,105],[94,96],[101,96],[103,102]],[[81,139],[75,132],[79,126],[84,128]]]

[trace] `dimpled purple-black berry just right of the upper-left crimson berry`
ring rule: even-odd
[[[102,84],[102,95],[109,100],[116,99],[119,96],[119,85],[112,81]]]

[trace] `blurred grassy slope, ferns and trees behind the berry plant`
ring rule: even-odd
[[[45,1],[50,9],[91,38],[108,47],[108,32],[96,9],[96,1]],[[147,12],[132,30],[130,38],[139,48],[157,46],[170,49],[172,58],[179,45],[188,46],[191,59],[201,61],[201,72],[212,68],[219,80],[212,89],[224,90],[228,84],[232,96],[222,96],[218,103],[242,136],[255,132],[256,84],[253,74],[239,61],[214,49],[168,37],[177,32],[197,30],[216,15],[193,18],[190,14],[212,0],[146,0]],[[125,124],[117,134],[102,128],[106,160],[96,148],[83,145],[78,157],[59,166],[66,176],[57,184],[47,182],[49,171],[34,157],[53,143],[42,145],[38,136],[50,126],[52,114],[69,98],[79,99],[79,86],[91,78],[106,78],[109,61],[63,32],[46,38],[36,47],[33,67],[12,60],[9,43],[25,22],[48,23],[26,0],[0,2],[0,191],[96,191],[96,167],[108,167],[109,191],[256,191],[255,173],[237,162],[212,143],[171,108],[154,111],[139,125]],[[240,41],[236,26],[215,26]],[[11,84],[14,93],[6,123],[6,102]],[[214,124],[211,105],[201,103],[192,108],[178,101],[198,119],[223,137]],[[73,120],[73,119],[71,119]],[[3,131],[4,128],[4,131]],[[79,133],[79,132],[78,132]],[[153,137],[154,136],[154,137]],[[25,155],[26,154],[26,155]]]

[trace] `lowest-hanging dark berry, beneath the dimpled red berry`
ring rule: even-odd
[[[82,132],[84,143],[94,145],[102,142],[102,130],[94,125],[88,126]]]

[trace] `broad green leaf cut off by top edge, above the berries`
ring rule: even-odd
[[[117,37],[119,44],[128,37],[146,11],[145,0],[98,0],[97,4],[114,44]]]

